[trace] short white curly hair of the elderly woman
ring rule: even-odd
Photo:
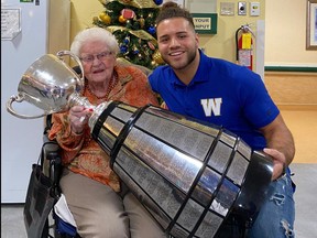
[[[70,45],[70,52],[79,56],[84,43],[99,41],[103,42],[109,50],[117,55],[119,53],[119,45],[114,35],[102,28],[89,28],[80,31],[74,39]]]

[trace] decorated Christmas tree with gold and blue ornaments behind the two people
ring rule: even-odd
[[[163,0],[99,0],[105,7],[92,23],[110,31],[120,46],[119,57],[154,69],[164,64],[157,51],[155,19]]]

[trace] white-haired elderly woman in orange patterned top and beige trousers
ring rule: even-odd
[[[146,76],[136,67],[117,65],[118,51],[116,37],[105,29],[90,28],[76,35],[70,52],[83,63],[84,96],[92,105],[120,100],[136,107],[157,106]],[[90,115],[83,106],[55,113],[48,134],[62,147],[61,187],[77,232],[83,238],[165,237],[139,201],[130,192],[121,192],[109,156],[90,137]]]

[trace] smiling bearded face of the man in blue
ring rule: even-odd
[[[167,19],[156,28],[158,51],[174,69],[184,69],[196,57],[198,36],[184,18]]]

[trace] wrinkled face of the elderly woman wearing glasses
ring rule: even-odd
[[[89,83],[98,84],[112,77],[116,55],[103,42],[86,42],[80,48],[79,58]]]

